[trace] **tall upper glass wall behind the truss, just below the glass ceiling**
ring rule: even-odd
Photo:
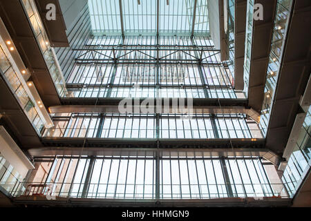
[[[91,37],[74,50],[68,97],[236,98],[207,37]]]

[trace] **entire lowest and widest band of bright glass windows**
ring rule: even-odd
[[[261,157],[212,157],[210,153],[164,151],[129,155],[36,157],[27,186],[73,198],[211,199],[287,197],[271,183]],[[42,172],[44,171],[44,173]],[[37,193],[34,188],[18,195]]]

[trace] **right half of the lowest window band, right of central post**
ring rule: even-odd
[[[167,157],[160,161],[161,198],[271,197],[258,157]]]

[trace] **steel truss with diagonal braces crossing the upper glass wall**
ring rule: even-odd
[[[221,66],[222,62],[209,61],[220,50],[213,46],[181,45],[85,45],[75,48],[80,55],[76,64],[202,64]],[[87,58],[86,58],[87,57]]]

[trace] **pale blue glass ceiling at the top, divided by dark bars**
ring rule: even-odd
[[[95,35],[156,35],[156,0],[88,0]],[[159,0],[159,34],[191,35],[195,0]],[[197,0],[194,35],[209,36],[207,0]]]

